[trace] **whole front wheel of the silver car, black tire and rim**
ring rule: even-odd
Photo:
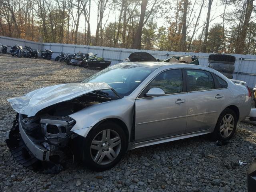
[[[102,139],[103,134],[106,134],[106,139]],[[107,139],[110,132],[110,139],[117,138],[115,143]],[[104,140],[107,140],[104,142]],[[93,144],[94,141],[94,144]],[[113,148],[111,145],[116,145]],[[92,147],[92,148],[91,148]],[[84,164],[88,168],[95,171],[103,171],[114,167],[121,160],[127,149],[127,139],[122,127],[114,122],[103,122],[93,128],[88,136],[83,140],[82,157]],[[98,155],[100,153],[100,156]],[[116,154],[116,157],[112,154]],[[104,155],[104,157],[102,157]],[[109,156],[112,158],[110,160]],[[96,158],[96,161],[94,161]]]

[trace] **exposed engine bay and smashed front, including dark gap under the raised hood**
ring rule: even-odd
[[[74,161],[71,143],[78,135],[70,131],[76,121],[69,115],[117,98],[96,90],[48,106],[38,111],[35,116],[17,114],[6,143],[14,158],[24,166],[34,168],[38,161],[51,162],[57,165],[57,168],[53,166],[53,173],[59,172],[63,168],[62,162],[65,162],[68,156],[72,156]]]

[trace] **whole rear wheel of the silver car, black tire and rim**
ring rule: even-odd
[[[233,128],[230,130],[231,126],[228,125],[228,123],[225,125],[224,123],[224,117],[228,118],[232,116],[230,124],[232,124]],[[234,135],[236,131],[236,124],[237,124],[237,117],[233,110],[226,108],[222,111],[220,114],[218,121],[216,123],[214,132],[213,132],[213,138],[215,140],[230,140],[232,136]],[[223,128],[221,128],[223,126]]]

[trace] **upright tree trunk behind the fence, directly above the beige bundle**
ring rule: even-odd
[[[180,38],[180,51],[186,51],[186,34],[187,34],[187,10],[188,10],[188,0],[184,0],[183,16],[182,16],[182,32]]]

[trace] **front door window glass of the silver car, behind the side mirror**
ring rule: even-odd
[[[165,94],[183,92],[182,70],[174,69],[160,73],[148,84],[140,97],[145,96],[146,92],[154,87],[164,90]]]

